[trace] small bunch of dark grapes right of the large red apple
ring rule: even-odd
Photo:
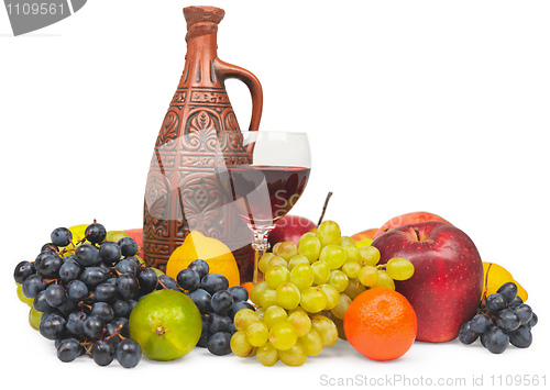
[[[531,328],[537,322],[537,314],[517,296],[516,283],[507,282],[482,299],[477,314],[460,328],[459,339],[472,344],[480,338],[493,354],[502,354],[508,344],[527,348],[532,343]]]

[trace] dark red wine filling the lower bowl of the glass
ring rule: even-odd
[[[253,231],[271,231],[300,198],[310,168],[243,164],[227,171],[238,214]]]

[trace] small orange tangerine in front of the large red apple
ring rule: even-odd
[[[351,302],[343,327],[345,338],[359,353],[373,360],[393,360],[413,346],[417,317],[404,296],[376,287]]]

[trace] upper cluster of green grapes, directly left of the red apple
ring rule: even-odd
[[[374,246],[358,247],[342,236],[333,221],[322,222],[317,232],[304,234],[298,245],[287,241],[274,245],[258,261],[264,280],[251,291],[251,300],[263,309],[279,305],[321,313],[342,328],[348,307],[367,288],[395,290],[394,280],[406,280],[415,271],[400,257],[378,265],[381,253]],[[340,332],[343,337],[343,332]]]

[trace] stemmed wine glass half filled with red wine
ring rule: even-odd
[[[234,132],[219,134],[220,140],[232,138],[233,143],[234,137]],[[234,158],[221,149],[216,159],[216,171],[239,216],[254,233],[252,281],[256,283],[260,277],[257,263],[270,248],[270,232],[296,204],[306,188],[311,154],[306,133],[254,131],[241,132],[238,137],[246,157],[244,160]]]

